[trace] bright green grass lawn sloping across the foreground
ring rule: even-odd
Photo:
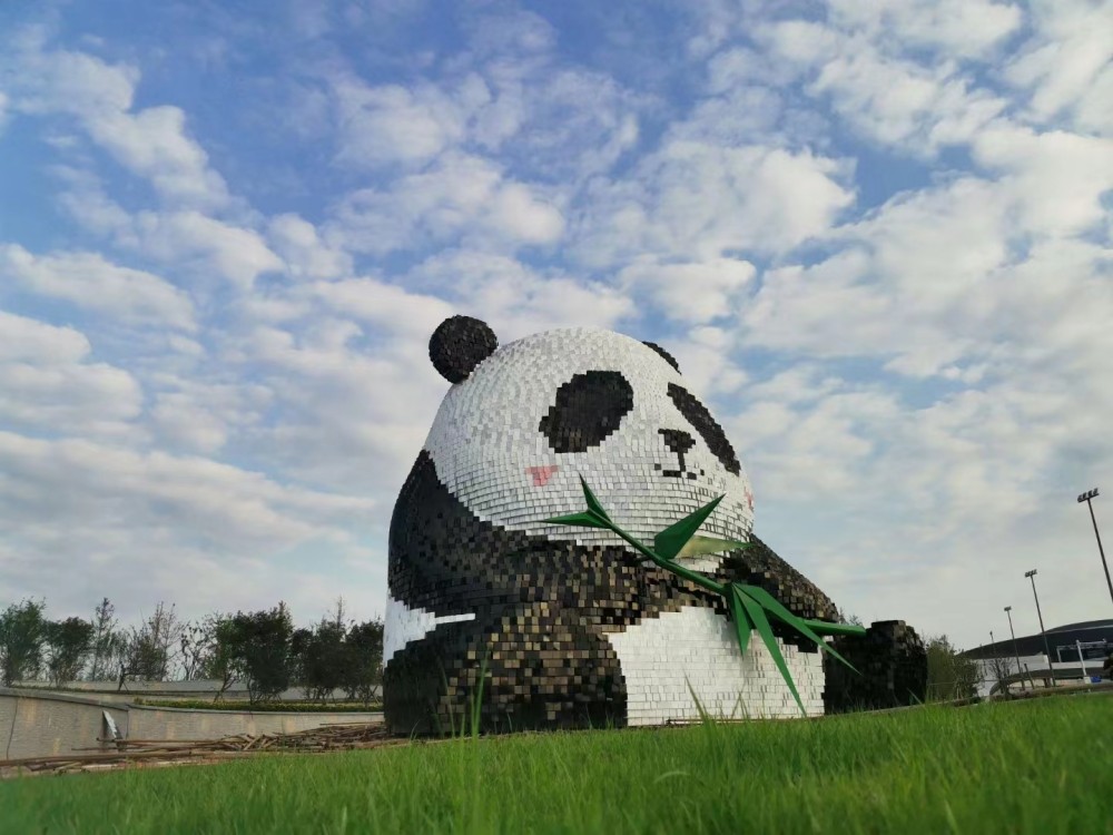
[[[1113,833],[1113,698],[0,784],[11,833]]]

